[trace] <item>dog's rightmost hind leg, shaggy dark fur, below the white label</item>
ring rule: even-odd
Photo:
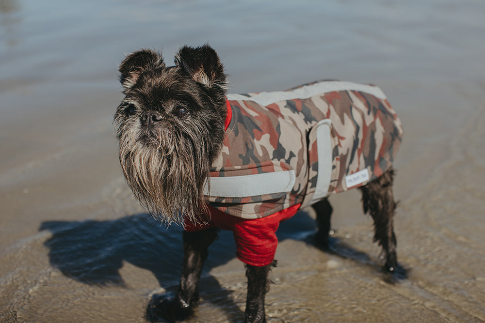
[[[370,213],[374,220],[374,242],[382,246],[381,259],[389,272],[397,268],[396,236],[392,223],[396,209],[392,194],[393,177],[393,169],[388,169],[376,180],[360,187],[364,213]]]

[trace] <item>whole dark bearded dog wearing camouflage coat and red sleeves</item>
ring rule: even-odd
[[[113,123],[126,181],[153,216],[185,229],[178,292],[150,305],[153,315],[193,315],[208,247],[225,229],[246,267],[245,322],[265,322],[279,223],[311,205],[316,242],[327,248],[327,197],[351,188],[374,220],[383,268],[396,270],[392,163],[403,130],[378,87],[327,80],[227,94],[209,45],[181,47],[175,66],[139,50],[119,72],[125,98]]]

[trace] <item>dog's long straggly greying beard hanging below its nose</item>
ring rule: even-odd
[[[129,123],[129,121],[128,121]],[[149,133],[136,124],[118,132],[120,162],[135,197],[148,211],[170,224],[209,219],[203,185],[209,180],[208,134],[202,128],[159,128]],[[209,185],[209,183],[207,183]]]

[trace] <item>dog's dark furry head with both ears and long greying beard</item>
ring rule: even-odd
[[[170,222],[205,220],[202,188],[224,138],[226,76],[210,46],[182,47],[166,67],[151,50],[120,65],[119,158],[142,205]]]

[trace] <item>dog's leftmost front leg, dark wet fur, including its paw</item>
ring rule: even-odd
[[[184,258],[180,285],[175,297],[165,295],[152,300],[148,306],[147,319],[158,322],[163,318],[169,322],[183,321],[193,314],[199,300],[198,285],[208,248],[217,238],[217,228],[203,231],[183,232]]]

